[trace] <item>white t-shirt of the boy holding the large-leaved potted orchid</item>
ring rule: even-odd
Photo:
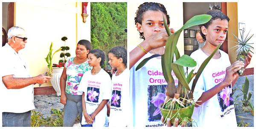
[[[130,69],[130,97],[132,104],[132,119],[135,127],[160,127],[160,104],[165,99],[166,80],[163,77],[161,57],[149,60],[145,66],[135,71],[138,64],[152,54],[146,54]],[[172,72],[177,85],[178,80]]]

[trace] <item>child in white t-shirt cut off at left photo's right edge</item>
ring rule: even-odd
[[[125,127],[128,124],[129,86],[127,69],[127,50],[117,46],[108,52],[108,63],[116,69],[112,75],[112,97],[110,103],[110,127]]]

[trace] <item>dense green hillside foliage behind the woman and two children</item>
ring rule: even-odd
[[[126,47],[127,3],[91,3],[91,43],[106,54],[116,46]]]

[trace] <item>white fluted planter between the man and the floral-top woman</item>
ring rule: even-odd
[[[58,96],[61,95],[60,79],[63,69],[64,67],[52,67],[52,79],[50,81],[52,83],[53,89],[57,92]]]

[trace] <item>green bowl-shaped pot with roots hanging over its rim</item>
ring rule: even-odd
[[[171,123],[172,123],[172,125],[173,125],[174,120],[175,120],[176,117],[179,119],[179,124],[182,122],[181,118],[191,118],[191,116],[192,116],[192,114],[193,114],[193,111],[194,111],[194,106],[195,106],[195,105],[191,105],[191,106],[186,106],[186,107],[184,107],[184,108],[181,108],[181,109],[179,110],[180,117],[179,117],[179,116],[177,117],[177,115],[175,115],[176,112],[177,112],[177,109],[172,110],[172,111],[170,111],[170,109],[163,109],[163,108],[162,108],[162,107],[163,107],[163,104],[161,104],[161,105],[159,106],[159,109],[160,109],[160,111],[161,111],[161,113],[162,113],[162,115],[163,115],[164,118],[172,118],[172,119],[171,119]],[[169,114],[168,114],[168,113],[169,113]],[[172,116],[170,116],[171,114],[172,114]],[[168,116],[167,116],[167,115],[168,115]],[[174,116],[174,115],[175,115],[175,116]],[[166,123],[166,121],[165,121],[165,123]]]

